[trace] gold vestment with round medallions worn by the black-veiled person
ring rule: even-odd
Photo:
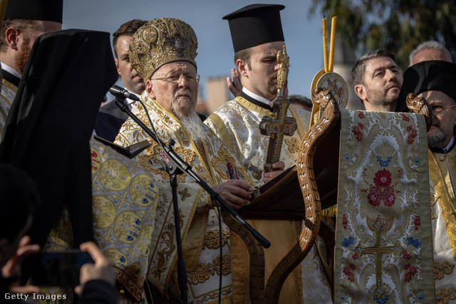
[[[133,159],[93,139],[90,150],[93,239],[117,274],[118,303],[147,303],[143,285],[150,262],[157,189],[150,174]],[[43,250],[62,251],[73,245],[71,221],[64,205]],[[46,288],[46,293],[72,294],[62,288]],[[71,302],[68,298],[67,303]]]

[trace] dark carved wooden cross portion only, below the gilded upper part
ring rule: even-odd
[[[288,117],[289,102],[283,96],[274,100],[274,111],[271,116],[264,116],[259,123],[259,130],[262,135],[269,135],[268,154],[266,156],[266,164],[264,164],[264,172],[271,172],[272,164],[279,162],[280,151],[284,135],[294,135],[298,128],[296,119]]]

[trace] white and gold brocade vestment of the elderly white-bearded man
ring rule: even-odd
[[[252,184],[252,179],[236,157],[222,144],[209,128],[202,124],[204,141],[197,145],[192,141],[180,122],[162,108],[155,100],[141,96],[147,107],[158,136],[164,141],[175,140],[175,152],[190,164],[204,182],[213,187],[226,179],[240,179]],[[133,108],[145,125],[150,127],[145,109],[141,105]],[[148,135],[131,119],[121,127],[116,143],[131,145],[146,140]],[[149,139],[152,144],[136,159],[152,174],[160,189],[155,233],[152,235],[152,258],[147,281],[161,293],[167,295],[176,281],[177,251],[175,244],[175,220],[172,208],[172,189],[170,177],[164,169],[168,159],[162,148]],[[222,270],[219,267],[219,217],[212,209],[212,202],[199,185],[187,174],[177,177],[177,196],[179,199],[182,251],[187,270],[189,303],[212,303],[218,298],[219,274],[222,274],[222,300],[232,301],[231,260],[227,226],[222,221]],[[217,239],[217,240],[216,240]],[[172,293],[172,295],[175,295]],[[179,296],[177,295],[177,298]]]

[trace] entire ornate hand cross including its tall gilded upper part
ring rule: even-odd
[[[284,51],[277,52],[277,63],[280,64],[280,68],[277,72],[277,98],[274,100],[272,115],[264,116],[259,123],[261,135],[269,135],[268,154],[266,155],[264,172],[273,171],[272,164],[279,161],[284,135],[294,135],[294,132],[298,128],[296,119],[287,116],[290,103],[283,96],[289,62],[290,59],[286,55],[284,43]]]

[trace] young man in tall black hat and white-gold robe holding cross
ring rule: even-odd
[[[234,63],[243,88],[237,98],[222,105],[204,121],[226,145],[234,150],[237,150],[234,145],[239,147],[242,153],[239,159],[244,164],[252,164],[250,169],[256,173],[256,185],[263,183],[262,177],[270,178],[274,174],[263,174],[269,136],[261,135],[259,123],[265,115],[271,116],[271,105],[277,96],[277,53],[283,51],[285,40],[280,11],[284,8],[278,4],[251,4],[223,17],[229,23]],[[308,130],[311,115],[306,110],[290,105],[288,116],[296,119],[298,130],[292,136],[284,136],[280,160],[285,168],[296,162],[298,150],[295,147]],[[301,221],[252,220],[250,223],[271,241],[271,248],[265,251],[268,273],[296,243]],[[234,243],[244,246],[235,235],[230,241],[232,248]],[[248,288],[245,288],[249,284],[248,263],[249,258],[243,256],[242,251],[232,250],[233,278],[242,278],[239,281],[233,280],[234,303],[249,303]],[[316,247],[302,265],[302,273],[299,266],[285,281],[279,303],[303,303],[303,290],[304,298],[309,303],[330,302],[329,283]],[[304,288],[301,282],[306,285]]]

